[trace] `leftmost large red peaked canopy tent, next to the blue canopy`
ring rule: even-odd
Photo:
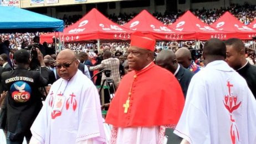
[[[65,28],[63,34],[65,42],[81,42],[90,40],[128,40],[132,32],[132,30],[112,22],[94,8],[78,22]],[[54,33],[40,35],[40,41],[52,43],[54,35]]]

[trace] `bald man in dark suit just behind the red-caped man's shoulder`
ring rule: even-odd
[[[172,50],[162,50],[156,56],[156,64],[170,71],[181,85],[183,95],[186,97],[188,85],[194,73],[178,64],[175,53]]]

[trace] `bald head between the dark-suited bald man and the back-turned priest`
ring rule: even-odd
[[[187,48],[180,48],[175,53],[178,63],[180,63],[184,68],[190,67],[192,63],[191,52]]]

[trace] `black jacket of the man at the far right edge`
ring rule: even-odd
[[[237,70],[237,72],[246,80],[250,91],[253,92],[256,99],[256,66],[247,63],[247,65],[245,65],[242,69]]]

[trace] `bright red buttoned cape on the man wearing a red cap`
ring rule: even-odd
[[[130,107],[125,113],[124,104],[131,88]],[[151,63],[124,76],[110,104],[106,123],[115,127],[177,125],[184,103],[175,76]]]

